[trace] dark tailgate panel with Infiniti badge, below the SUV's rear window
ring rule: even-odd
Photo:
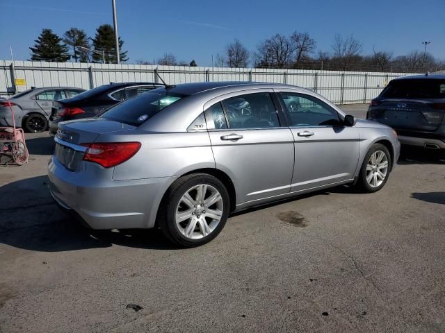
[[[371,118],[402,130],[435,131],[444,118],[445,110],[433,108],[432,101],[382,99],[371,107]]]

